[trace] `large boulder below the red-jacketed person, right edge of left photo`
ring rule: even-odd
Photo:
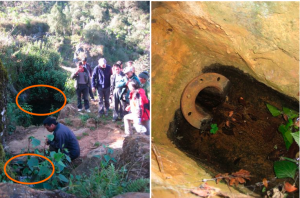
[[[119,166],[126,165],[128,178],[150,177],[150,138],[147,135],[135,134],[124,139],[123,153]]]

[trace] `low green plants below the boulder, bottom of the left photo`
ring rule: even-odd
[[[149,179],[128,181],[127,169],[125,167],[116,169],[113,164],[116,160],[110,156],[113,150],[108,148],[107,152],[108,154],[103,157],[96,156],[102,158],[101,166],[92,170],[89,176],[77,175],[74,178],[71,175],[68,193],[85,198],[113,197],[126,192],[149,192]]]

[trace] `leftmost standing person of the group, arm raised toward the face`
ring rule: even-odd
[[[84,100],[84,108],[86,112],[90,111],[90,104],[88,100],[89,86],[91,85],[89,72],[83,67],[83,63],[79,62],[77,65],[77,70],[71,75],[72,79],[76,79],[75,88],[77,94],[77,108],[78,111],[82,111],[81,96]]]

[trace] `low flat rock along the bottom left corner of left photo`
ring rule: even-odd
[[[22,198],[76,198],[74,195],[67,194],[60,190],[47,191],[47,190],[36,190],[26,185],[11,184],[11,183],[0,183],[0,197],[22,197]]]

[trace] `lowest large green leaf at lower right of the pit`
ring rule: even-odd
[[[290,177],[294,179],[297,169],[298,169],[297,164],[293,162],[289,162],[289,161],[274,162],[274,171],[277,178]]]

